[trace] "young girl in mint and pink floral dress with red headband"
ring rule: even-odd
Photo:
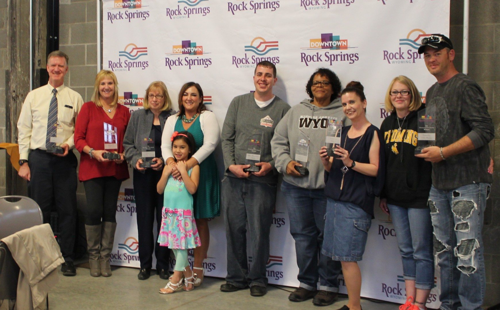
[[[194,289],[196,276],[189,268],[187,249],[194,249],[201,245],[192,214],[192,194],[198,188],[199,166],[195,165],[187,170],[185,163],[194,152],[194,138],[187,131],[175,131],[170,140],[175,161],[165,165],[156,185],[158,194],[164,193],[158,243],[173,251],[175,267],[170,281],[159,290],[161,294],[171,294],[181,289],[184,291]],[[174,179],[171,176],[174,167],[180,172],[181,178]],[[182,282],[184,282],[183,288]]]

